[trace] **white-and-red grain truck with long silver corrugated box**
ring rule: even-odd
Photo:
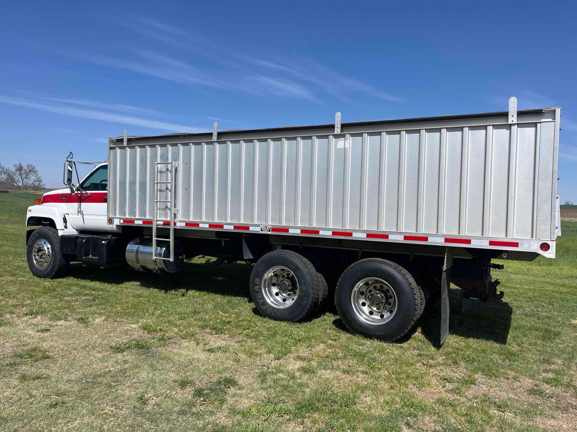
[[[304,320],[330,293],[350,331],[392,341],[440,299],[442,343],[451,283],[462,308],[496,302],[492,260],[555,257],[560,115],[511,98],[503,112],[125,130],[83,180],[70,153],[66,187],[28,208],[28,265],[40,278],[70,262],[131,267],[170,284],[186,258],[243,260],[264,317]]]

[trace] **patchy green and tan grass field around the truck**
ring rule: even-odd
[[[576,430],[577,223],[558,259],[505,262],[504,302],[439,306],[409,338],[254,312],[247,264],[197,258],[174,275],[72,264],[34,278],[31,195],[0,194],[0,429]]]

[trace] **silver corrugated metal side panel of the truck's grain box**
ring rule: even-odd
[[[154,164],[179,161],[180,220],[551,240],[556,119],[112,145],[110,216],[152,218]]]

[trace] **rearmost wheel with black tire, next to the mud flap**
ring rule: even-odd
[[[351,264],[340,276],[335,306],[351,332],[392,342],[413,327],[422,313],[422,298],[403,267],[368,258]]]

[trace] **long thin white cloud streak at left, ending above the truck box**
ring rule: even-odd
[[[23,99],[20,97],[12,96],[2,96],[0,95],[0,103],[17,105],[19,107],[28,107],[33,109],[39,109],[40,111],[51,112],[55,114],[64,114],[74,117],[80,117],[85,119],[102,120],[104,122],[113,122],[123,125],[133,125],[133,126],[144,126],[154,129],[160,129],[171,132],[204,132],[204,129],[198,127],[184,126],[182,124],[158,122],[153,119],[144,119],[140,117],[134,117],[130,115],[96,111],[94,109],[83,109],[70,105],[48,105],[40,103],[39,101],[33,101],[29,99]]]

